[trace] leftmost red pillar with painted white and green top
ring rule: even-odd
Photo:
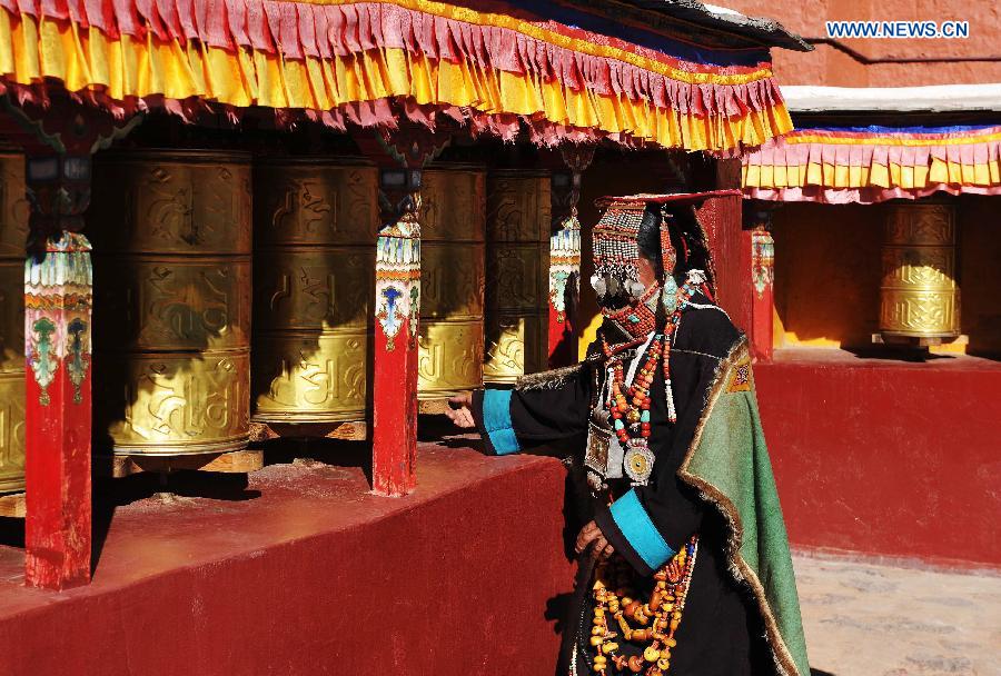
[[[24,265],[27,584],[90,581],[90,155],[29,155]]]

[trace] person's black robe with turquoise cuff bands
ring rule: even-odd
[[[702,295],[696,295],[693,304],[710,305]],[[638,487],[636,493],[653,525],[671,549],[677,551],[693,534],[697,533],[700,536],[687,602],[675,633],[677,646],[672,650],[668,676],[775,673],[763,638],[761,616],[754,609],[746,590],[740,588],[733,577],[727,575],[723,519],[691,486],[676,476],[685,449],[702,417],[717,365],[739,337],[739,331],[718,308],[686,308],[682,314],[670,364],[677,411],[676,424],[672,425],[667,420],[665,380],[661,369],[657,369],[651,386],[650,449],[655,463],[648,485]],[[592,349],[589,354],[593,357],[569,376],[556,382],[544,384],[537,389],[528,386],[527,389],[521,388],[511,394],[511,428],[517,447],[583,438],[595,400],[595,388],[601,387],[605,377],[599,350]],[[628,361],[626,356],[624,362]],[[483,405],[484,394],[476,392],[473,412],[487,448],[495,453],[509,453],[513,448],[512,439],[507,439],[504,448],[495,448],[492,437],[503,439],[503,436],[498,437],[496,429],[489,429],[492,422],[489,419],[485,420]],[[497,424],[494,422],[493,426],[496,427]],[[495,434],[492,435],[490,431]],[[578,446],[583,447],[583,441]],[[630,488],[628,479],[613,479],[608,484],[616,498]],[[605,537],[632,564],[637,575],[650,576],[651,567],[630,545],[607,506],[596,503],[592,513]],[[573,622],[567,630],[583,630],[583,643],[586,644],[591,629],[591,598],[589,594],[578,594],[578,598],[586,607],[573,609]],[[576,672],[589,673],[589,656],[586,656],[589,648],[582,652],[581,640],[564,642],[565,646],[573,644],[577,644],[573,648],[577,650]],[[626,650],[625,654],[628,655],[630,652]],[[568,660],[569,656],[564,655],[564,659]],[[586,659],[588,664],[582,664],[582,659]],[[612,673],[615,673],[614,668]]]

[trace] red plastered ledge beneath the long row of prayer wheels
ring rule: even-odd
[[[119,507],[93,583],[60,594],[22,587],[22,551],[0,548],[0,674],[551,676],[563,466],[418,454],[405,498],[276,465],[249,499]]]

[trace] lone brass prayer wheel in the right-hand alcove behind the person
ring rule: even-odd
[[[950,203],[886,206],[880,332],[929,344],[960,335],[955,209]]]

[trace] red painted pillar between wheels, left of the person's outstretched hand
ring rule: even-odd
[[[400,125],[359,132],[358,147],[379,173],[381,226],[376,242],[371,484],[404,496],[417,485],[417,319],[420,316],[422,168],[452,135]]]

